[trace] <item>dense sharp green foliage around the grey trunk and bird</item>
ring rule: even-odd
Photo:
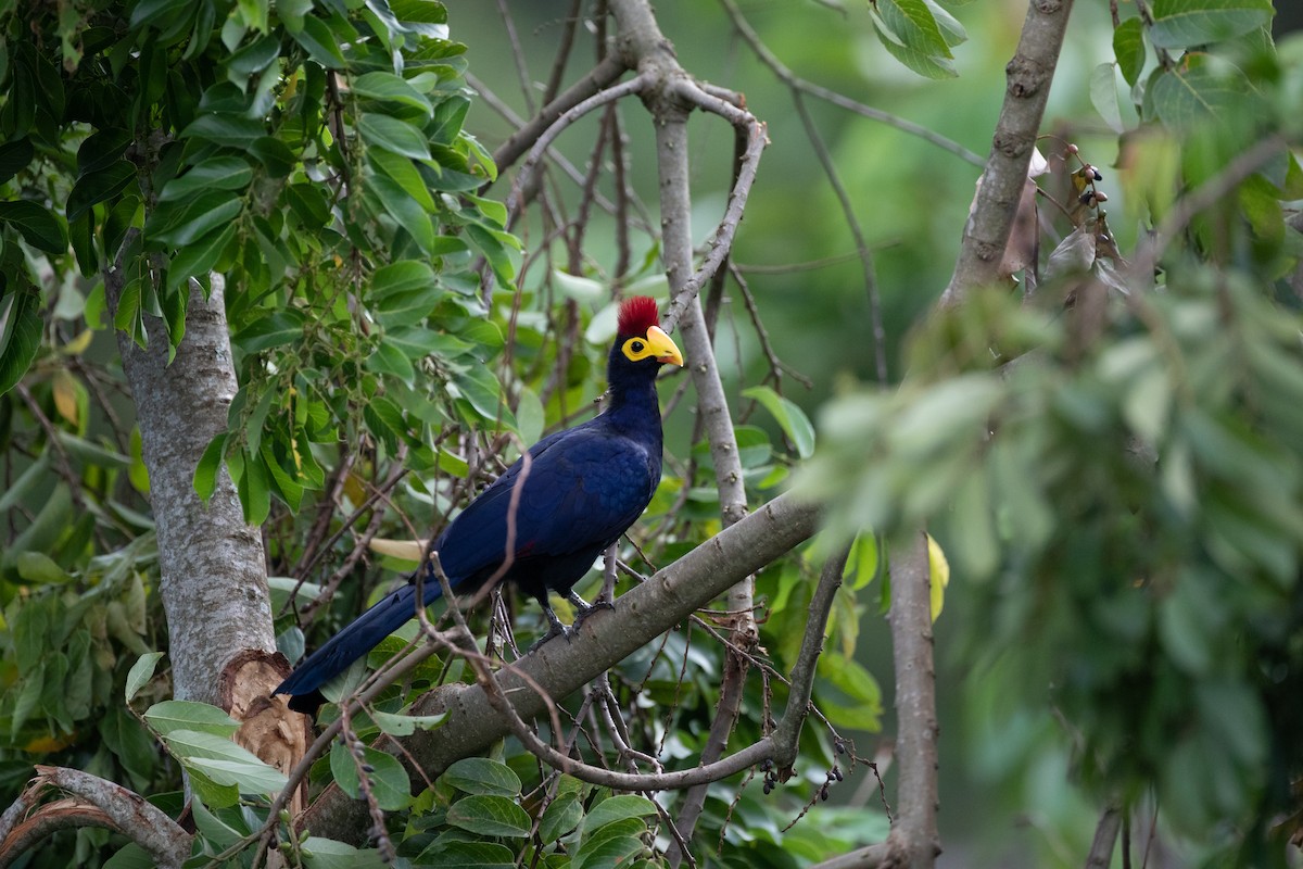
[[[208,498],[224,461],[248,521],[265,530],[271,572],[308,580],[271,580],[278,645],[293,661],[410,568],[386,538],[438,530],[520,444],[589,413],[614,334],[611,285],[655,274],[654,241],[601,283],[556,270],[517,284],[521,245],[504,206],[480,195],[496,169],[463,126],[465,46],[450,39],[439,3],[8,4],[0,25],[0,180],[10,199],[0,205],[0,801],[39,761],[121,782],[175,817],[184,769],[195,853],[248,861],[253,849],[237,857],[236,846],[258,831],[266,795],[285,778],[229,741],[236,723],[220,710],[167,700],[165,659],[151,651],[167,634],[150,481],[115,331],[143,345],[146,321],[162,318],[176,348],[190,294],[208,292],[210,272],[224,276],[240,391],[194,487]],[[645,289],[663,296],[653,283]],[[769,387],[752,395],[808,453],[801,412]],[[737,438],[764,499],[787,457],[760,427],[740,426]],[[718,530],[705,444],[674,468],[637,535],[653,564]],[[635,555],[625,558],[642,564]],[[876,572],[872,546],[859,564],[863,585]],[[775,628],[803,623],[812,571],[796,556],[767,580]],[[523,608],[523,629],[536,632],[537,614]],[[850,594],[838,624],[839,645],[821,664],[830,723],[808,734],[801,765],[812,784],[778,800],[757,782],[708,801],[698,835],[753,855],[734,860],[784,865],[794,857],[756,846],[786,842],[817,857],[883,833],[873,813],[830,813],[838,836],[782,831],[810,788],[826,790],[827,770],[851,762],[838,758],[833,728],[877,728],[877,685],[853,661]],[[612,674],[610,711],[628,719],[636,747],[671,761],[700,750],[718,694],[722,649],[702,627]],[[790,636],[766,631],[779,671],[795,657]],[[382,646],[373,663],[400,646]],[[427,662],[349,722],[347,744],[438,726],[395,713],[459,679],[472,679],[460,662]],[[770,680],[749,691],[736,739],[767,726]],[[567,714],[592,702],[576,698]],[[515,743],[416,796],[391,756],[340,743],[314,784],[331,779],[390,813],[412,865],[463,852],[509,864],[526,842],[550,865],[606,865],[646,852],[659,825],[644,797],[607,799],[541,770]],[[104,830],[69,831],[31,865],[99,865],[119,847]],[[319,836],[287,847],[306,865],[379,853]],[[128,846],[113,865],[139,860]]]

